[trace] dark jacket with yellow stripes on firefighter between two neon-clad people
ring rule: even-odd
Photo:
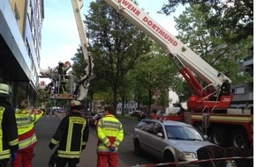
[[[79,158],[82,149],[86,148],[89,137],[87,120],[81,113],[72,112],[65,116],[52,137],[49,148],[59,144],[57,156],[64,158]]]

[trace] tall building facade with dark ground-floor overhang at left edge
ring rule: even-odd
[[[43,0],[1,0],[0,83],[10,84],[16,106],[34,105],[39,84]]]

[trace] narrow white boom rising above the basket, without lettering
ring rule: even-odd
[[[74,11],[74,15],[76,18],[76,23],[79,31],[79,38],[81,41],[81,47],[82,52],[84,54],[85,61],[87,62],[87,68],[85,69],[86,75],[83,76],[79,84],[77,85],[74,96],[77,97],[77,99],[82,100],[84,98],[87,98],[87,91],[88,87],[90,85],[90,81],[94,78],[93,74],[93,68],[94,63],[92,56],[90,55],[90,52],[88,52],[88,40],[87,40],[87,33],[85,29],[85,25],[83,23],[83,19],[81,18],[81,8],[83,7],[83,0],[72,0],[72,8]]]

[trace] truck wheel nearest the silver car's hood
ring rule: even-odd
[[[227,133],[225,128],[216,127],[211,133],[211,142],[214,142],[221,147],[226,147],[228,142],[228,136],[229,134]]]

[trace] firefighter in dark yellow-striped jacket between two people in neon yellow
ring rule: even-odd
[[[83,110],[85,106],[81,105],[80,101],[71,101],[70,113],[61,120],[49,143],[49,149],[53,149],[58,144],[56,154],[50,158],[49,166],[55,166],[56,163],[56,167],[64,167],[68,163],[68,167],[76,167],[79,163],[89,137],[87,119],[81,115]]]

